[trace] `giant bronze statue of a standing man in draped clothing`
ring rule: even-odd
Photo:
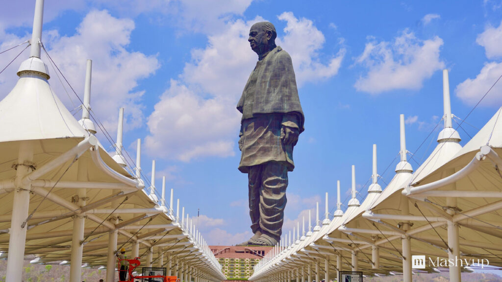
[[[248,174],[253,237],[240,245],[273,246],[281,238],[288,171],[304,116],[291,57],[280,46],[274,25],[256,23],[249,44],[258,62],[237,104],[242,113],[239,171]]]

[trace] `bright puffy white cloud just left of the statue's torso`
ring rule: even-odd
[[[220,98],[204,99],[172,80],[148,118],[147,152],[189,162],[196,157],[233,156],[239,116]]]

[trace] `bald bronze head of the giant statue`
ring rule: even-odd
[[[249,30],[249,44],[251,49],[258,54],[261,59],[262,55],[276,47],[276,28],[272,23],[259,22],[254,24]]]

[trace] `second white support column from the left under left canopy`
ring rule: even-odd
[[[87,160],[81,158],[78,161],[77,180],[86,181],[87,179]],[[86,205],[86,189],[78,189],[76,204],[79,207]],[[71,259],[70,259],[70,282],[81,282],[82,279],[82,252],[84,245],[84,221],[85,214],[76,214],[73,216],[73,233],[71,239]]]

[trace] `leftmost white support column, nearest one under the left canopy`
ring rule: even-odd
[[[42,7],[43,7],[43,1]],[[37,6],[39,1],[37,1]],[[33,144],[23,141],[19,145],[19,155],[16,168],[16,191],[12,206],[11,228],[9,230],[9,256],[7,258],[7,281],[17,282],[22,280],[23,262],[25,255],[26,231],[28,224],[24,221],[28,217],[30,206],[31,182],[22,184],[22,179],[33,171],[30,165],[33,162]]]

